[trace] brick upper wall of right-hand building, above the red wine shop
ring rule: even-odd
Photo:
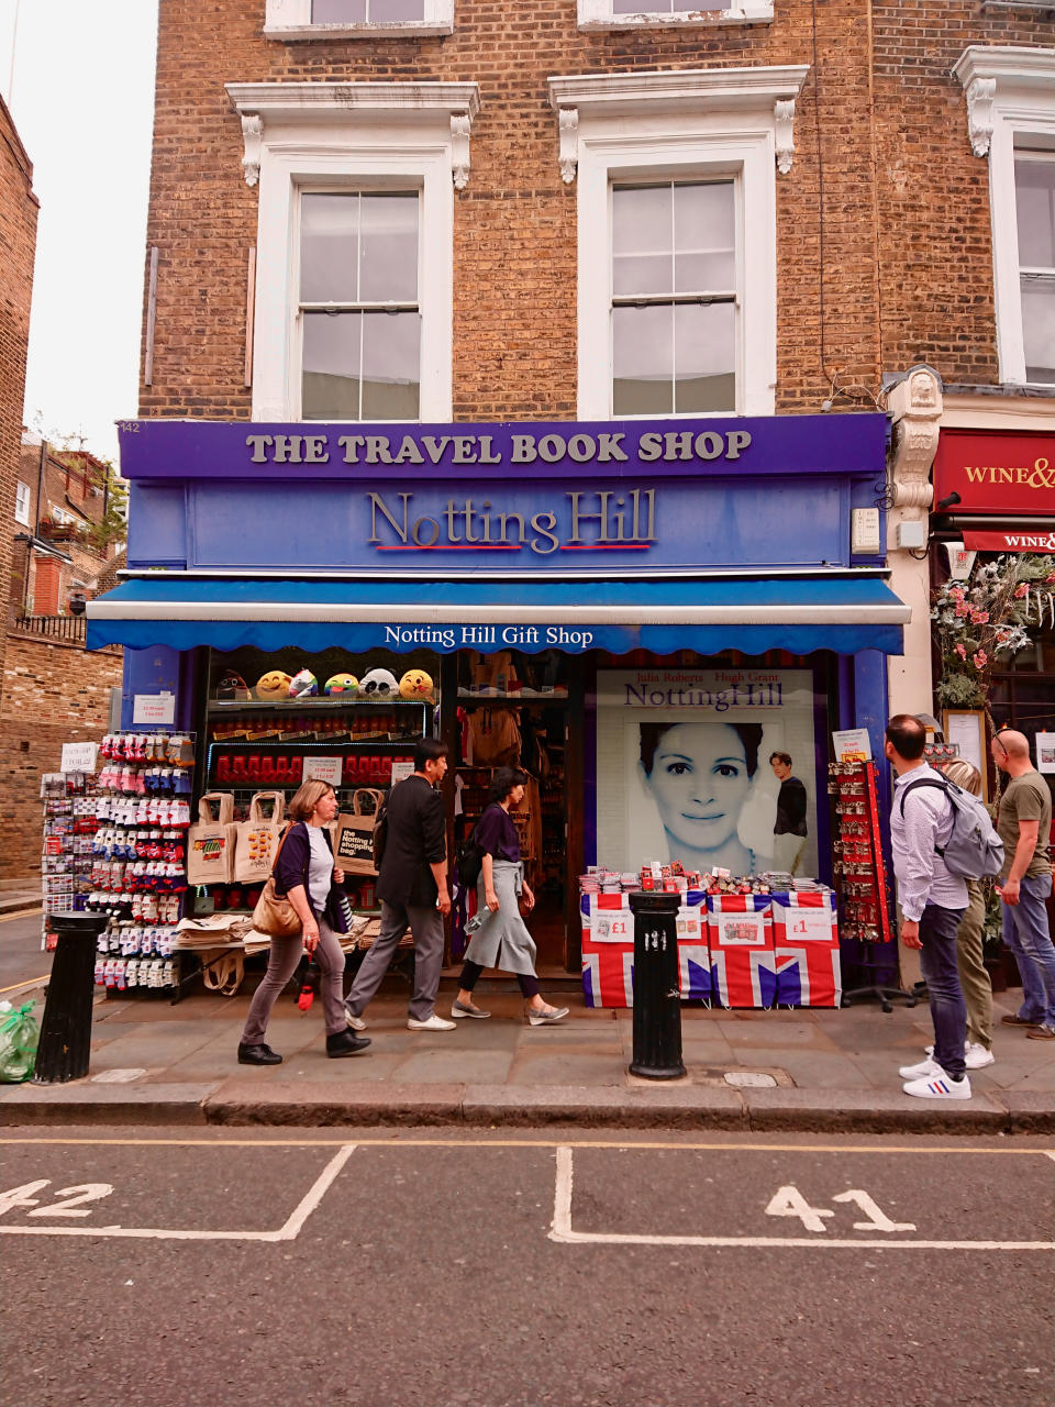
[[[980,0],[874,3],[886,369],[999,381],[989,162],[952,65],[968,45],[1055,45],[1052,11]]]

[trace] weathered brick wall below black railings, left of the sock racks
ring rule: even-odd
[[[41,774],[58,771],[63,743],[96,741],[110,722],[121,651],[6,637],[0,699],[0,879],[41,870]]]

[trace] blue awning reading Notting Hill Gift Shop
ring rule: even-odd
[[[875,575],[338,581],[149,575],[87,606],[87,647],[256,646],[902,653],[910,611]]]

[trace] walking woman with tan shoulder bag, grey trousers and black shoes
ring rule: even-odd
[[[347,1029],[345,1013],[345,954],[338,933],[345,922],[338,906],[336,886],[343,884],[343,870],[333,865],[329,823],[338,813],[338,798],[329,782],[305,782],[290,802],[291,825],[281,840],[274,861],[274,889],[288,899],[300,915],[302,930],[290,938],[271,938],[267,972],[249,1006],[239,1065],[281,1065],[281,1055],[266,1044],[267,1021],[279,993],[297,971],[301,951],[318,960],[322,969],[322,1014],[326,1019],[326,1055],[357,1055],[370,1041]]]

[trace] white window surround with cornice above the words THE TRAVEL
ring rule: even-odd
[[[260,186],[252,418],[301,411],[300,196],[418,190],[419,421],[452,419],[454,186],[468,180],[474,83],[226,86],[242,117],[246,180]]]

